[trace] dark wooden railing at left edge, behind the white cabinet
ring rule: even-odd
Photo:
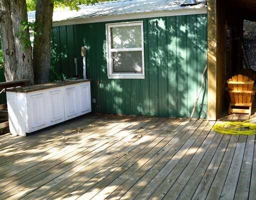
[[[2,93],[7,88],[17,87],[17,86],[28,86],[28,85],[29,85],[28,79],[0,82],[0,93]],[[7,108],[6,103],[0,104],[0,110],[5,110],[6,108]],[[8,121],[4,121],[4,122],[0,123],[0,129],[8,127],[8,126],[9,126]]]

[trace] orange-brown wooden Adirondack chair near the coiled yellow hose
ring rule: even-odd
[[[251,114],[252,102],[254,99],[254,81],[245,75],[234,75],[227,80],[229,90],[228,113],[247,113]]]

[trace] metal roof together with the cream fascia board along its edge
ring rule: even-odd
[[[53,12],[53,26],[102,21],[127,20],[159,16],[207,13],[205,0],[198,4],[182,6],[184,0],[115,0],[92,5],[80,5],[78,10],[68,7]],[[34,21],[35,11],[28,12]]]

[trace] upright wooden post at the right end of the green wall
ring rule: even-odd
[[[207,119],[216,120],[216,46],[217,46],[217,25],[216,25],[216,0],[207,0],[208,11],[208,92],[207,92]]]

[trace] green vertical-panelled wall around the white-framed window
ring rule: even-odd
[[[109,22],[53,27],[52,79],[72,76],[74,57],[82,76],[80,46],[86,45],[87,77],[96,99],[92,111],[190,116],[206,64],[206,14],[138,20],[144,26],[145,79],[107,78],[105,23]],[[194,116],[206,116],[206,95],[204,86]]]

